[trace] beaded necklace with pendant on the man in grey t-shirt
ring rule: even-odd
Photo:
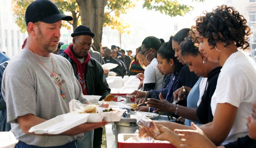
[[[25,46],[27,49],[29,49],[27,46]],[[41,65],[43,65],[43,67],[51,74],[51,76],[54,78],[54,80],[56,81],[56,84],[58,85],[58,87],[59,87],[59,89],[60,89],[60,95],[62,96],[62,98],[63,99],[66,99],[65,98],[65,93],[63,93],[63,90],[62,90],[62,88],[61,88],[61,85],[60,85],[60,83],[57,81],[57,80],[59,80],[59,75],[56,75],[56,73],[55,73],[55,67],[54,67],[54,63],[53,63],[53,57],[50,55],[50,57],[51,57],[51,60],[52,60],[52,63],[53,63],[53,73],[51,73],[50,72],[50,70],[48,70],[48,68],[37,58],[37,56],[34,54],[34,52],[32,52],[30,49],[29,49],[29,51],[35,56],[35,58],[39,61],[39,63],[41,64]]]

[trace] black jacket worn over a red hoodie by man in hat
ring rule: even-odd
[[[60,54],[64,58],[70,61],[74,74],[77,77],[77,65],[76,63],[66,54]],[[77,77],[78,78],[78,77]],[[88,95],[102,96],[100,100],[105,99],[110,93],[109,84],[107,83],[103,69],[98,61],[94,58],[88,62],[85,70],[85,83]]]

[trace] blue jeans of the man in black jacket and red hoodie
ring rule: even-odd
[[[94,130],[84,133],[81,140],[76,140],[77,148],[92,148]]]

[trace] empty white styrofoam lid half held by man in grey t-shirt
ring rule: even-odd
[[[36,134],[59,134],[87,122],[88,113],[66,113],[29,129]]]

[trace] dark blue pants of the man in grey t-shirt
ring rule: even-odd
[[[19,141],[16,145],[15,148],[45,148],[45,147],[40,147],[40,146],[35,146],[35,145],[28,145],[24,142]],[[61,146],[51,146],[47,148],[77,148],[75,141],[69,142],[65,145]]]

